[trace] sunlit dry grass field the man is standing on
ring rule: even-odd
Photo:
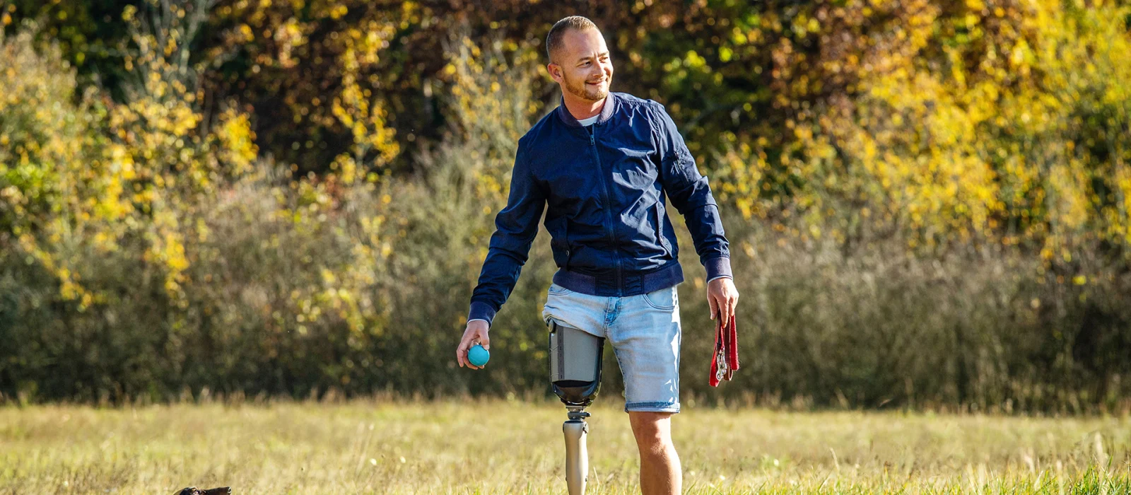
[[[614,400],[589,493],[638,492]],[[599,401],[598,401],[599,402]],[[564,493],[564,409],[530,401],[0,408],[0,493]],[[1131,418],[689,408],[685,493],[1131,493]]]

